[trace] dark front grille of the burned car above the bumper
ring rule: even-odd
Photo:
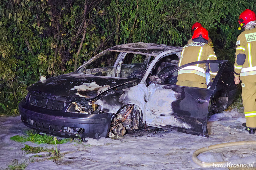
[[[66,106],[66,103],[64,103],[64,102],[50,100],[47,98],[34,96],[34,95],[31,95],[31,97],[29,99],[29,103],[34,106],[39,106],[42,108],[58,110],[58,111],[63,110],[64,107]]]

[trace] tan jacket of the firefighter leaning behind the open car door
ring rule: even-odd
[[[195,61],[217,60],[217,57],[207,43],[193,42],[183,47],[179,66]],[[178,71],[178,82],[182,81],[203,81],[206,83],[206,65],[196,64],[187,66]],[[210,64],[210,81],[217,75],[218,64]]]

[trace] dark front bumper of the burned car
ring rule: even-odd
[[[63,109],[65,110],[65,109]],[[62,137],[107,137],[112,113],[71,114],[30,105],[22,100],[19,104],[22,122],[29,128]]]

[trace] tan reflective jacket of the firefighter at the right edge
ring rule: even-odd
[[[236,41],[235,77],[256,82],[256,28],[245,29]]]

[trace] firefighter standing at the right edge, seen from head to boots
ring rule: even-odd
[[[255,13],[246,9],[238,20],[244,32],[238,35],[236,41],[236,61],[234,64],[235,84],[242,81],[242,99],[246,130],[250,134],[256,129],[256,17]],[[240,77],[240,78],[239,78]]]

